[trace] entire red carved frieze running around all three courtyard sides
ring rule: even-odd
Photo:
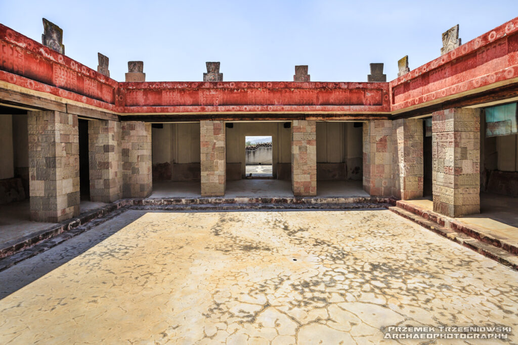
[[[117,82],[0,24],[0,80],[120,114],[399,113],[518,81],[518,18],[390,83]]]

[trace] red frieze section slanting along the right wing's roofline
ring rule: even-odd
[[[391,81],[391,110],[518,80],[518,17]]]

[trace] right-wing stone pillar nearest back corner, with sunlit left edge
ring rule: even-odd
[[[392,195],[401,200],[420,198],[423,196],[423,120],[395,120],[392,132]]]

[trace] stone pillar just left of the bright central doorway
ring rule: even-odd
[[[200,121],[202,197],[222,197],[226,187],[226,143],[223,121]]]

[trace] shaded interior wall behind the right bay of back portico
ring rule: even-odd
[[[316,178],[362,179],[362,135],[352,122],[317,122]]]

